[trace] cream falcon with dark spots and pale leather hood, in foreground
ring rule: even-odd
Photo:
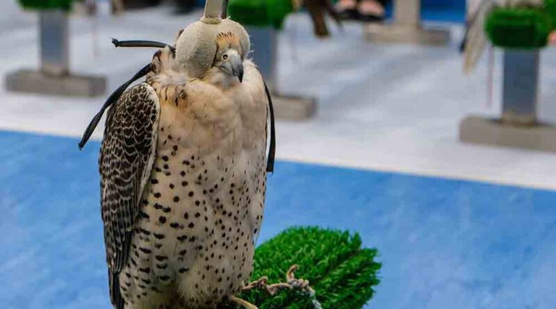
[[[222,0],[208,0],[201,21],[108,99],[80,143],[112,105],[99,171],[116,309],[215,308],[223,301],[256,308],[234,295],[252,276],[272,171],[272,105],[247,58],[249,36],[220,18],[221,7]],[[155,43],[128,46],[164,46]]]

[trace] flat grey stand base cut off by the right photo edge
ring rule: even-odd
[[[544,124],[516,126],[498,119],[466,117],[459,125],[459,140],[475,144],[556,152],[556,127]]]

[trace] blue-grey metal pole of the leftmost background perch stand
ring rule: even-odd
[[[64,75],[70,68],[70,30],[66,12],[40,12],[40,62],[47,74]]]

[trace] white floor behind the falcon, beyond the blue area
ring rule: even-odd
[[[37,67],[35,16],[1,6],[0,75]],[[111,37],[173,42],[179,28],[196,18],[174,16],[166,8],[133,12],[104,20],[93,35],[92,21],[76,17],[72,68],[79,74],[108,76],[111,92],[153,53],[114,49]],[[357,24],[346,25],[343,32],[334,29],[332,39],[316,40],[309,17],[288,19],[280,37],[279,87],[318,97],[319,105],[310,121],[277,123],[277,157],[556,189],[556,154],[458,141],[463,117],[497,115],[500,106],[497,91],[493,106],[486,106],[486,61],[475,74],[462,73],[457,51],[462,28],[450,28],[455,38],[450,47],[378,46],[363,41]],[[551,87],[556,84],[555,60],[555,51],[543,53],[539,113],[548,122],[556,122],[556,90]],[[1,84],[0,129],[79,136],[108,97],[14,94],[5,91],[3,80]],[[500,78],[494,85],[498,90]],[[94,137],[100,138],[101,132],[97,129]]]

